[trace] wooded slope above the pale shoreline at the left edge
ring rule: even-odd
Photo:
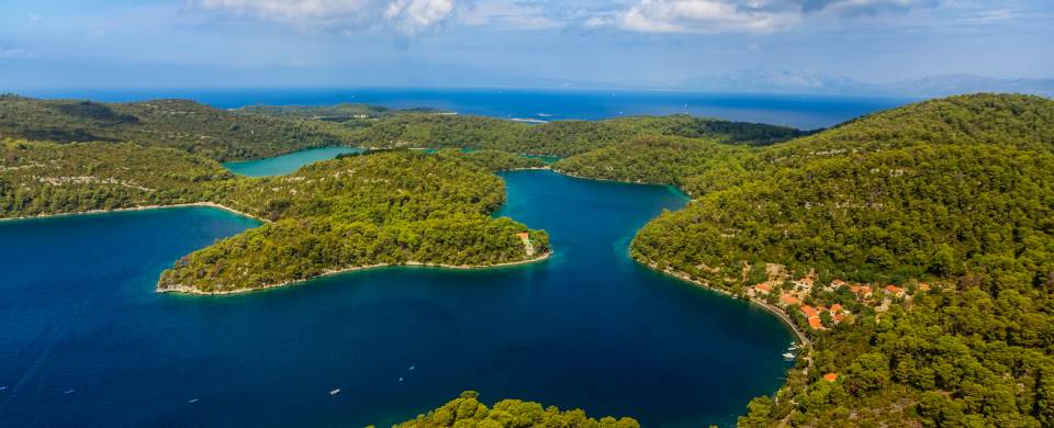
[[[214,160],[123,143],[0,145],[0,218],[171,205],[234,176]]]

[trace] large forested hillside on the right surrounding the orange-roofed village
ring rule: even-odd
[[[811,330],[812,367],[740,425],[1051,426],[1052,112],[1041,98],[956,97],[730,158],[696,177],[698,200],[640,230],[633,257],[732,292],[761,262],[942,284]],[[833,294],[810,300],[855,302]]]

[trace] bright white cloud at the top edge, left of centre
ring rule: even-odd
[[[450,18],[453,0],[190,0],[205,10],[225,11],[303,29],[345,33],[390,29],[416,35]]]

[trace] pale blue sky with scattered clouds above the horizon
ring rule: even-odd
[[[0,91],[1054,77],[1050,0],[7,0]]]

